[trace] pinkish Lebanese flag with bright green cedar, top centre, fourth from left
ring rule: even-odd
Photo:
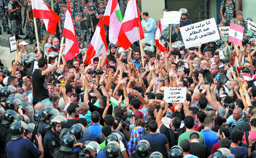
[[[118,41],[122,21],[123,19],[118,1],[109,0],[103,17],[103,23],[109,26],[109,42],[116,44]]]

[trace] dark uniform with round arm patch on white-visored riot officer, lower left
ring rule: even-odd
[[[54,150],[61,147],[61,140],[51,129],[44,136],[44,158],[52,158]]]

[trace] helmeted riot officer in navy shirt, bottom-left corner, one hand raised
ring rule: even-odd
[[[29,139],[24,139],[24,128],[27,125],[23,121],[17,121],[10,125],[11,141],[6,145],[7,158],[43,158],[44,148],[40,135],[35,135],[38,140],[38,148]],[[18,145],[17,145],[18,144]]]

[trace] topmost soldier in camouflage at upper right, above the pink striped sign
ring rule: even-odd
[[[234,16],[235,10],[237,12],[236,0],[224,0],[221,3],[221,18],[225,19],[227,23],[231,22],[234,18],[236,18],[236,15]]]

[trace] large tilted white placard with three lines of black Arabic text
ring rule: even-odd
[[[186,48],[220,39],[214,18],[183,26],[180,33]]]

